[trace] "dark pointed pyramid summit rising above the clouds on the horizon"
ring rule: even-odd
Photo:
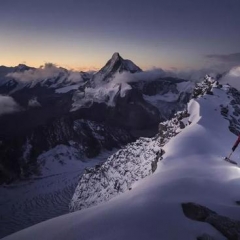
[[[98,85],[102,81],[109,81],[116,73],[135,73],[141,71],[141,68],[135,65],[131,60],[123,59],[118,52],[115,52],[106,65],[93,76],[92,83],[93,85]]]

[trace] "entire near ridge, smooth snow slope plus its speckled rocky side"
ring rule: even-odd
[[[211,76],[186,109],[87,168],[73,213],[4,239],[239,239],[240,92]],[[233,160],[240,164],[236,150]]]

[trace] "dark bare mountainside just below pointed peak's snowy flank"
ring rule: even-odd
[[[159,110],[146,102],[137,89],[131,89],[124,97],[117,94],[113,107],[92,103],[90,107],[80,108],[73,114],[126,129],[157,129],[158,123],[163,120]]]

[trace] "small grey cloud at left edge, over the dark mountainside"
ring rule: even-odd
[[[20,111],[20,106],[10,96],[0,95],[0,116]]]

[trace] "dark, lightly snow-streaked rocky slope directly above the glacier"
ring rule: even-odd
[[[26,135],[2,140],[0,144],[0,182],[40,174],[37,157],[59,144],[76,143],[79,154],[97,156],[102,149],[112,150],[134,138],[124,129],[89,121],[62,117]]]

